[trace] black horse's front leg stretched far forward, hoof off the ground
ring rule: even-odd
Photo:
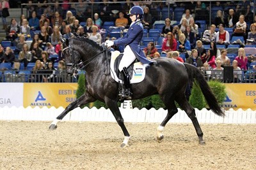
[[[94,99],[90,94],[88,94],[88,92],[85,92],[85,94],[83,94],[81,97],[76,99],[76,101],[68,104],[67,108],[65,108],[65,110],[57,118],[55,118],[53,120],[49,129],[55,130],[57,128],[58,122],[60,122],[60,120],[62,120],[63,117],[65,117],[69,111],[74,110],[75,108],[77,108],[79,106],[83,106],[84,104],[91,103],[94,101],[96,101],[96,99]]]

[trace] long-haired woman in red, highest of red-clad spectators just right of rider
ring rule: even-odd
[[[177,50],[177,41],[174,38],[172,32],[168,32],[166,34],[166,38],[163,39],[162,53],[167,53],[167,52],[176,51],[176,50]]]

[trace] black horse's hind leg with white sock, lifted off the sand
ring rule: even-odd
[[[163,131],[164,131],[164,126],[168,123],[168,121],[175,115],[178,110],[177,107],[174,103],[174,101],[166,101],[164,102],[166,108],[168,109],[168,113],[166,117],[164,118],[163,122],[157,127],[157,142],[161,143],[164,139]]]

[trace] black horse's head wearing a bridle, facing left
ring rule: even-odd
[[[66,62],[66,71],[70,75],[76,75],[79,71],[80,56],[79,53],[74,49],[72,39],[61,39],[63,45],[62,53]]]

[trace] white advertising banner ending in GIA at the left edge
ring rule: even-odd
[[[0,107],[23,106],[23,83],[0,83]]]

